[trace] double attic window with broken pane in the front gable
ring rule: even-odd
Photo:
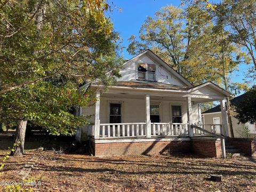
[[[156,81],[156,64],[138,63],[138,79]]]

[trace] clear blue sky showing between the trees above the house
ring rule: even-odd
[[[128,47],[128,38],[131,35],[138,36],[141,25],[146,20],[147,16],[154,16],[154,13],[166,5],[180,6],[180,1],[171,0],[119,0],[114,1],[116,8],[113,7],[113,12],[110,13],[111,21],[114,23],[114,29],[123,38],[122,46]],[[122,12],[119,11],[122,9]],[[126,49],[123,49],[122,55],[124,59],[130,59],[130,55]],[[232,78],[234,82],[243,82],[244,73],[250,66],[244,64],[239,66],[239,71],[236,71]]]

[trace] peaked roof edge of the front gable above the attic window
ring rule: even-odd
[[[173,69],[170,65],[168,65],[165,61],[163,61],[161,58],[158,57],[158,55],[156,55],[153,51],[151,51],[150,49],[147,49],[143,52],[141,52],[140,54],[136,55],[135,57],[131,58],[130,60],[127,60],[124,64],[123,67],[128,65],[129,63],[131,63],[132,61],[138,59],[139,57],[141,57],[144,54],[148,54],[149,56],[151,56],[152,58],[154,58],[155,60],[157,60],[157,62],[159,64],[162,64],[170,73],[172,73],[175,77],[177,77],[182,83],[184,83],[185,85],[189,86],[189,87],[194,87],[193,84],[191,84],[185,77],[183,77],[181,74],[179,74],[175,69]]]

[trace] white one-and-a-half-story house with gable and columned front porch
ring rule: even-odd
[[[194,86],[150,50],[126,61],[120,74],[112,86],[82,87],[95,91],[98,101],[80,108],[79,115],[93,117],[78,129],[77,139],[90,138],[97,156],[190,150],[194,134],[203,134],[190,127],[201,124],[199,103],[223,104],[230,95],[212,82]],[[228,135],[227,121],[220,126]]]

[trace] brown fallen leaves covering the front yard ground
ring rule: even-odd
[[[53,143],[55,145],[55,143]],[[1,150],[3,155],[6,150]],[[91,157],[56,154],[52,150],[27,150],[10,157],[0,181],[19,181],[17,173],[35,156],[29,181],[41,186],[22,186],[31,191],[256,191],[256,163],[247,157],[227,159],[195,156]],[[210,174],[222,174],[212,182]],[[4,186],[0,186],[4,189]]]

